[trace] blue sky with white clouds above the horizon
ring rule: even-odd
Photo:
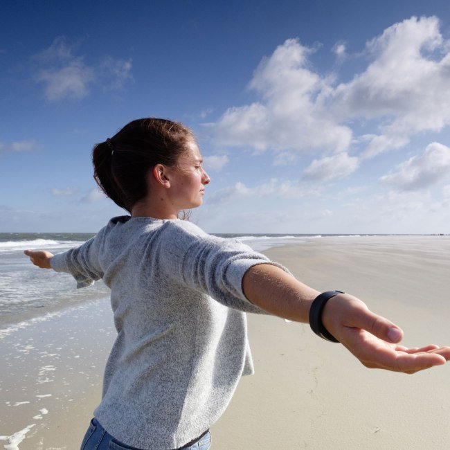
[[[447,0],[2,1],[0,232],[125,214],[91,150],[197,136],[208,233],[450,233]]]

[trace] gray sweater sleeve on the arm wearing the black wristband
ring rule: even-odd
[[[181,235],[172,240],[168,251],[183,255],[174,260],[179,260],[177,272],[186,285],[203,291],[227,307],[269,314],[246,298],[242,290],[242,278],[246,271],[257,264],[273,264],[287,271],[285,267],[238,240],[223,239],[206,233],[190,235],[186,239],[184,234],[181,231]],[[174,261],[172,258],[168,258],[169,260]],[[174,267],[171,269],[173,271]]]

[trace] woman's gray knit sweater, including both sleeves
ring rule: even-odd
[[[128,216],[51,259],[78,287],[102,278],[111,288],[118,335],[94,412],[108,433],[176,449],[224,413],[241,375],[253,373],[244,313],[264,313],[242,277],[267,262],[190,222]]]

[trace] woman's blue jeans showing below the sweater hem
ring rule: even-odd
[[[201,436],[197,442],[194,442],[189,447],[182,447],[183,450],[208,450],[211,446],[211,434],[208,431],[206,435]],[[141,450],[136,447],[129,447],[114,439],[107,431],[100,425],[98,420],[94,417],[89,424],[86,435],[84,435],[80,450]]]

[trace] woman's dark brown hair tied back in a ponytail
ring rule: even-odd
[[[143,118],[125,125],[92,150],[100,189],[129,213],[147,195],[147,175],[156,164],[173,166],[195,141],[188,127],[168,119]]]

